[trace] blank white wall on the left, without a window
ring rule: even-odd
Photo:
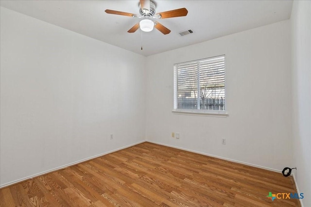
[[[0,13],[2,186],[144,140],[145,57]]]

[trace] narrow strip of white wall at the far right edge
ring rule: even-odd
[[[291,16],[294,172],[311,207],[311,1],[294,1]]]

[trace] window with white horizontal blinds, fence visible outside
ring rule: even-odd
[[[174,64],[174,111],[225,113],[225,55]]]

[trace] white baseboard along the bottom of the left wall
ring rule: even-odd
[[[17,179],[17,180],[8,182],[8,183],[4,183],[4,184],[0,185],[0,188],[4,188],[4,187],[10,186],[10,185],[14,185],[14,184],[16,184],[16,183],[23,182],[23,181],[25,181],[25,180],[32,179],[32,178],[34,178],[34,177],[38,177],[38,176],[45,175],[45,174],[48,174],[48,173],[52,173],[52,172],[57,171],[57,170],[62,170],[62,169],[65,169],[65,168],[67,168],[67,167],[70,167],[70,166],[72,166],[72,165],[76,165],[76,164],[79,164],[79,163],[81,163],[81,162],[85,162],[85,161],[90,160],[90,159],[98,158],[98,157],[101,157],[101,156],[103,156],[103,155],[106,155],[106,154],[109,154],[109,153],[112,153],[112,152],[116,152],[116,151],[119,151],[119,150],[121,150],[121,149],[125,149],[125,148],[134,146],[134,145],[139,144],[139,143],[144,143],[144,142],[146,142],[146,141],[145,141],[145,140],[142,140],[142,141],[140,141],[140,142],[138,142],[138,143],[133,143],[133,144],[130,144],[130,145],[127,145],[127,146],[120,147],[120,148],[118,148],[118,149],[114,149],[114,150],[111,150],[111,151],[108,151],[108,152],[104,152],[104,153],[99,154],[99,155],[95,155],[95,156],[92,156],[92,157],[88,157],[88,158],[86,158],[86,159],[80,159],[80,160],[78,160],[78,161],[71,162],[71,163],[69,163],[69,164],[62,165],[62,166],[60,166],[60,167],[53,168],[53,169],[51,169],[51,170],[47,170],[47,171],[44,171],[44,172],[41,172],[41,173],[37,173],[37,174],[35,174],[35,175],[30,175],[30,176],[23,177],[23,178],[20,178],[20,179]]]

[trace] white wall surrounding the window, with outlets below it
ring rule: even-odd
[[[147,57],[147,140],[275,170],[292,166],[290,49],[286,20]],[[173,114],[173,64],[223,54],[229,116]]]

